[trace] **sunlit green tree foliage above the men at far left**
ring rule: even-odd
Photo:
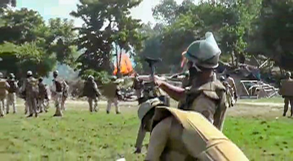
[[[78,52],[74,46],[73,21],[55,18],[46,25],[37,11],[27,8],[4,11],[0,17],[5,20],[0,26],[1,69],[17,76],[25,75],[26,70],[36,72],[36,76],[47,76],[57,61],[75,65]]]

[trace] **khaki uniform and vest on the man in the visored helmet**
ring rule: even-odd
[[[211,81],[189,90],[186,98],[179,102],[179,109],[201,113],[220,131],[223,128],[228,106],[225,87],[215,77]]]

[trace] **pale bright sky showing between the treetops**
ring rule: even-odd
[[[175,0],[178,4],[183,0]],[[69,15],[73,10],[76,10],[76,4],[79,0],[17,0],[17,8],[26,7],[37,10],[45,20],[50,18],[69,18],[74,19]],[[160,0],[144,0],[137,8],[132,9],[132,16],[139,18],[142,22],[154,23],[151,8],[156,6]],[[76,26],[81,26],[82,20],[74,19]]]

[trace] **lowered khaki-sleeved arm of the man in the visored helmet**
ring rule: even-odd
[[[214,114],[214,126],[216,126],[217,129],[219,129],[220,131],[222,131],[223,129],[224,119],[228,108],[225,92],[222,93],[221,98],[222,99],[220,100],[220,106],[216,109],[216,112]]]

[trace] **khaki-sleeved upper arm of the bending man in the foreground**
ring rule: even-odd
[[[151,132],[151,138],[147,150],[147,156],[145,160],[159,161],[163,150],[166,147],[173,117],[167,117],[163,119],[159,124],[155,126]]]

